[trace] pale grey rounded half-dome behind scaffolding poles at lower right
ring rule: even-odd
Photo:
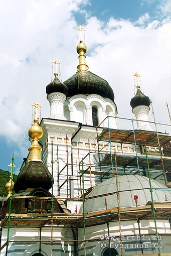
[[[166,188],[161,183],[151,179],[152,188]],[[123,191],[119,193],[120,196],[120,207],[135,207],[134,195],[138,195],[138,206],[146,205],[148,201],[151,201],[149,189],[149,180],[147,177],[139,175],[123,175],[118,177],[118,189]],[[140,189],[133,190],[131,189]],[[130,190],[125,191],[124,190]],[[92,213],[97,211],[105,210],[105,198],[107,200],[107,209],[117,207],[117,195],[106,195],[107,193],[116,192],[116,177],[110,178],[97,185],[88,195],[97,196],[104,194],[102,197],[93,199],[87,199],[85,197],[85,213]],[[153,200],[155,201],[171,201],[171,191],[153,190]],[[82,213],[82,206],[80,207],[80,213]]]

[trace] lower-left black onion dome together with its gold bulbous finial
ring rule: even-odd
[[[41,147],[39,138],[43,136],[42,127],[38,123],[38,118],[34,119],[34,124],[29,129],[29,137],[33,139],[29,148],[30,157],[28,163],[23,167],[18,175],[14,189],[19,191],[26,189],[43,188],[49,190],[52,187],[52,175],[41,160]]]

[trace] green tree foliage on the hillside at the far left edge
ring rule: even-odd
[[[0,169],[0,197],[3,197],[3,195],[6,197],[7,196],[7,191],[5,189],[5,186],[7,182],[10,180],[10,172],[8,171],[3,171]],[[17,175],[13,175],[13,181],[15,182],[17,180]]]

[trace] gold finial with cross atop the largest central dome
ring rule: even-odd
[[[80,70],[88,70],[88,66],[85,62],[85,53],[87,52],[87,47],[86,45],[83,43],[83,35],[82,32],[85,31],[85,29],[83,27],[78,26],[76,28],[76,30],[80,31],[80,35],[79,35],[79,44],[77,45],[77,53],[79,54],[79,65],[77,66],[77,71]],[[78,35],[77,35],[78,37]]]

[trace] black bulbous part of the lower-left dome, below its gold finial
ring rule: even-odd
[[[20,171],[14,190],[18,193],[28,188],[40,187],[49,190],[52,187],[52,175],[42,162],[31,161]]]

